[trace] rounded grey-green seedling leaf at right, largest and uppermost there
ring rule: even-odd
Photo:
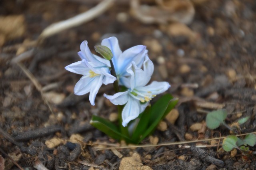
[[[206,126],[210,129],[216,129],[220,124],[224,124],[228,113],[226,110],[216,110],[210,112],[206,116]]]

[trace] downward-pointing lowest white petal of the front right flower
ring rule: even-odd
[[[128,102],[122,111],[122,125],[125,127],[131,121],[137,118],[140,114],[139,102],[132,97],[128,98]]]

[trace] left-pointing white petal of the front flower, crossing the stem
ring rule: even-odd
[[[124,105],[128,101],[128,93],[129,91],[119,92],[114,94],[113,96],[104,94],[104,97],[110,100],[110,102],[114,105]]]

